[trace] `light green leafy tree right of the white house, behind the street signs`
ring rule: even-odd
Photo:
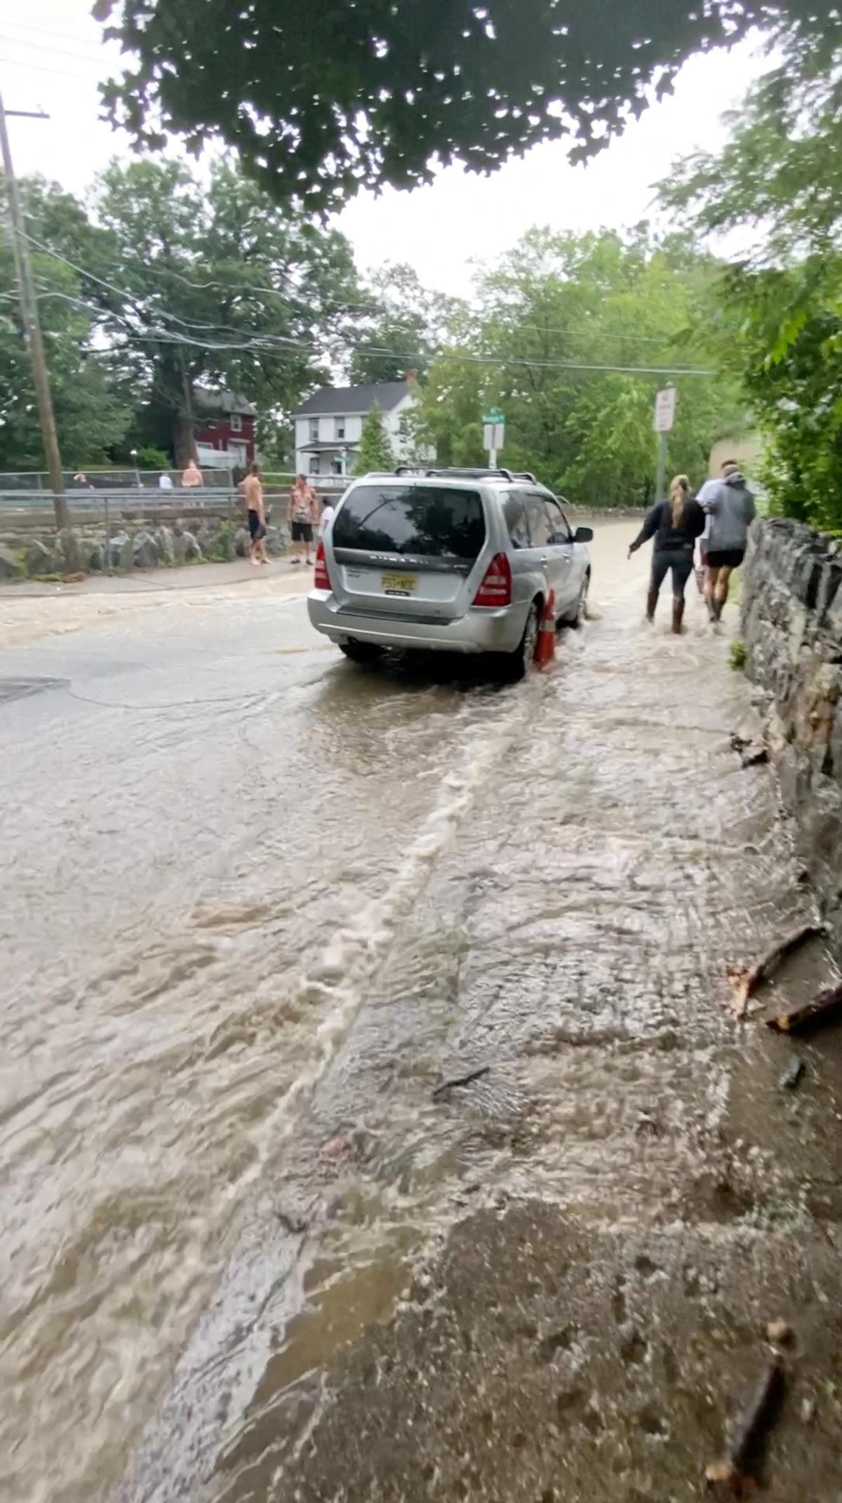
[[[589,505],[647,502],[657,388],[681,368],[714,368],[705,343],[714,284],[711,257],[647,225],[627,236],[529,230],[480,278],[480,311],[430,370],[421,418],[439,458],[481,463],[481,413],[496,404],[504,464]],[[732,382],[713,376],[677,385],[669,457],[698,481],[711,442],[740,421],[740,401]]]

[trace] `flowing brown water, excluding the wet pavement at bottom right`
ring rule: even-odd
[[[723,966],[810,894],[726,640],[695,601],[647,631],[628,537],[513,690],[355,670],[271,591],[0,657],[11,1498],[283,1497],[337,1353],[474,1205],[725,1214],[710,1142],[777,1108]]]

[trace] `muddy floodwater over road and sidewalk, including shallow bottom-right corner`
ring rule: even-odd
[[[504,690],[0,600],[0,1498],[690,1500],[776,1317],[762,1495],[842,1498],[842,1051],[725,977],[815,900],[632,535]]]

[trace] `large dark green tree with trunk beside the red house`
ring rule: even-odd
[[[114,162],[95,209],[110,271],[87,296],[135,356],[143,439],[192,451],[195,388],[224,385],[290,410],[325,379],[320,352],[358,293],[347,240],[266,200],[230,161],[195,191],[177,162]]]

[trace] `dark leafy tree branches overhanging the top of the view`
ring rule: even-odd
[[[132,59],[111,119],[158,147],[224,140],[280,198],[331,210],[359,188],[492,171],[568,135],[591,155],[695,51],[753,26],[830,33],[813,0],[98,0]],[[185,39],[189,62],[185,66]]]

